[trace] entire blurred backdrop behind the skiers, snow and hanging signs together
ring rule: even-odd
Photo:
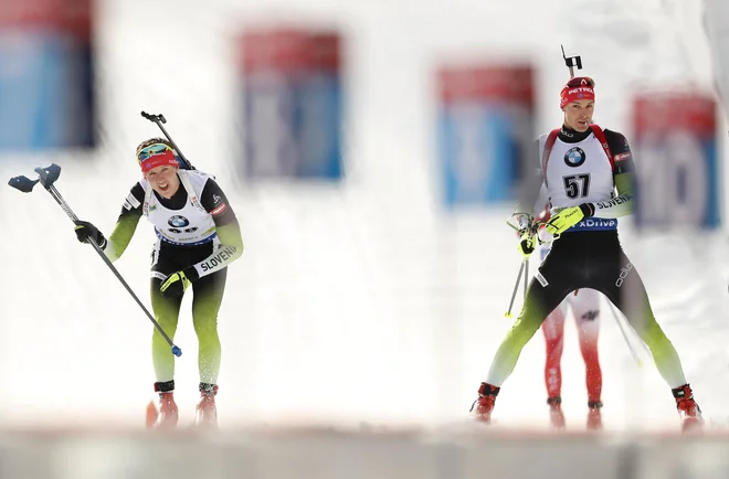
[[[245,243],[219,317],[221,433],[463,425],[513,323],[520,256],[506,220],[538,164],[533,139],[562,121],[563,46],[581,57],[575,74],[596,82],[594,121],[631,142],[640,221],[621,220],[623,246],[707,427],[725,434],[727,10],[716,0],[1,0],[0,172],[35,178],[59,164],[59,191],[108,234],[141,178],[136,146],[161,136],[140,111],[163,114],[229,195]],[[141,428],[155,381],[149,321],[41,188],[6,187],[0,204],[0,426]],[[115,264],[147,305],[154,241],[141,221]],[[190,305],[176,337],[182,427],[198,400]],[[603,307],[605,433],[677,432],[647,351],[631,330],[628,347],[622,318]],[[496,430],[549,432],[543,348],[538,332],[499,395]],[[571,318],[562,368],[568,429],[584,430]]]

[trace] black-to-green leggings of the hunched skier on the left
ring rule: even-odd
[[[203,276],[192,284],[192,326],[198,336],[198,369],[200,382],[218,384],[221,347],[218,337],[218,311],[225,290],[228,268]],[[165,332],[175,338],[182,298],[165,298],[159,291],[161,279],[152,277],[150,285],[155,319]],[[162,336],[152,334],[152,364],[157,382],[175,379],[175,355]]]

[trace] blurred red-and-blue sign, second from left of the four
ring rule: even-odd
[[[242,175],[342,177],[341,36],[272,29],[241,36]]]

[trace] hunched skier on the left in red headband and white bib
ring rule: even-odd
[[[152,138],[142,142],[137,147],[137,160],[144,178],[131,188],[108,240],[85,221],[76,222],[76,236],[84,243],[93,238],[115,262],[129,245],[142,215],[154,224],[157,241],[151,251],[150,298],[155,319],[175,338],[182,296],[192,288],[200,374],[196,423],[214,426],[221,360],[218,311],[228,266],[243,253],[240,225],[215,180],[198,170],[180,169],[179,155],[169,141]],[[173,397],[175,356],[157,330],[152,334],[152,365],[159,411],[152,406],[147,423],[173,428],[179,417]]]

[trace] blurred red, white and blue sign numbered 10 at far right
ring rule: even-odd
[[[720,226],[717,104],[697,91],[645,92],[633,100],[635,224]]]

